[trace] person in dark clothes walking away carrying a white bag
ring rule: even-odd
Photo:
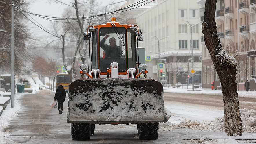
[[[54,101],[57,99],[59,114],[62,114],[63,103],[65,101],[65,98],[66,98],[66,91],[62,85],[59,85],[58,88],[56,89],[56,93],[53,99]]]

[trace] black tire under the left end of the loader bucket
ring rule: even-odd
[[[89,140],[91,136],[91,123],[71,123],[72,140]]]

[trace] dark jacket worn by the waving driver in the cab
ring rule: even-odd
[[[100,41],[100,47],[105,51],[105,58],[120,58],[122,56],[122,49],[117,45],[114,47],[105,45],[105,41],[105,38]]]

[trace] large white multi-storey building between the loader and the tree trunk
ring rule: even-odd
[[[143,41],[139,47],[146,49],[148,77],[167,80],[167,83],[192,83],[191,57],[193,48],[193,69],[195,83],[201,83],[202,36],[198,0],[164,0],[136,17],[136,24],[142,30]],[[197,25],[192,27],[187,24]],[[191,34],[192,33],[192,34]],[[192,35],[192,47],[191,47]],[[164,63],[166,76],[159,78],[158,64]]]

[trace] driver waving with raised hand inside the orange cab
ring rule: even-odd
[[[103,58],[120,58],[122,56],[122,49],[116,45],[116,39],[110,38],[109,43],[110,45],[106,45],[105,41],[109,37],[109,34],[106,34],[106,36],[100,41],[100,47],[104,50]]]

